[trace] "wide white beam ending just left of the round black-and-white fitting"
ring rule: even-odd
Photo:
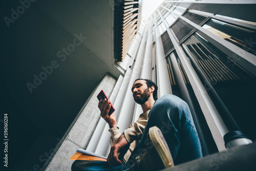
[[[159,11],[158,11],[159,12]],[[159,12],[161,18],[163,16]],[[216,145],[219,151],[226,150],[224,145],[223,136],[228,132],[226,125],[224,124],[220,114],[218,113],[217,109],[215,108],[214,103],[211,101],[207,91],[205,90],[202,82],[200,81],[196,71],[194,70],[193,66],[191,65],[190,61],[187,59],[186,54],[182,50],[177,41],[177,37],[175,36],[174,32],[167,26],[164,22],[165,27],[167,28],[167,32],[169,34],[170,39],[173,42],[174,48],[181,60],[183,68],[187,74],[187,77],[191,83],[191,87],[193,88],[195,95],[198,99],[198,102],[201,106],[203,114],[205,116],[206,122],[209,126],[211,131],[212,137],[214,138]]]

